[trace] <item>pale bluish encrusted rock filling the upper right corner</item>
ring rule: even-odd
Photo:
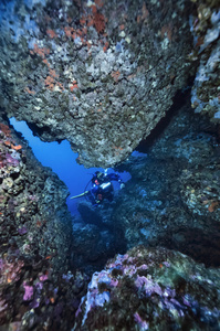
[[[219,1],[196,0],[197,13],[190,15],[193,34],[192,61],[200,64],[191,93],[196,113],[208,114],[220,122],[220,10]]]

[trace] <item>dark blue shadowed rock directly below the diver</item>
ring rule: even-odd
[[[78,204],[81,217],[73,220],[72,263],[83,268],[87,275],[102,269],[106,260],[126,249],[121,238],[123,233],[109,220],[113,206],[107,210],[94,207],[88,202]]]

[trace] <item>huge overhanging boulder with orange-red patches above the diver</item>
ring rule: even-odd
[[[44,140],[67,139],[86,167],[126,159],[193,75],[191,6],[1,3],[2,107]]]

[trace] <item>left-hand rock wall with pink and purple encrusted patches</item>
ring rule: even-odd
[[[70,330],[87,277],[71,269],[65,185],[0,122],[0,330]],[[70,271],[71,270],[71,271]]]

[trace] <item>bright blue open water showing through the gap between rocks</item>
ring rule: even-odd
[[[70,196],[66,199],[69,210],[72,214],[77,214],[77,203],[84,197],[76,200],[71,200],[70,197],[83,193],[92,174],[98,170],[103,171],[103,169],[86,169],[83,166],[80,166],[75,161],[77,153],[72,151],[67,140],[63,140],[61,143],[56,141],[44,142],[39,137],[33,136],[25,121],[17,121],[15,118],[12,117],[10,118],[10,124],[29,141],[29,146],[32,148],[34,156],[42,166],[50,167],[66,184],[70,191]],[[108,169],[108,172],[111,171],[113,171],[113,169]],[[130,179],[128,172],[123,172],[119,175],[124,182]]]

